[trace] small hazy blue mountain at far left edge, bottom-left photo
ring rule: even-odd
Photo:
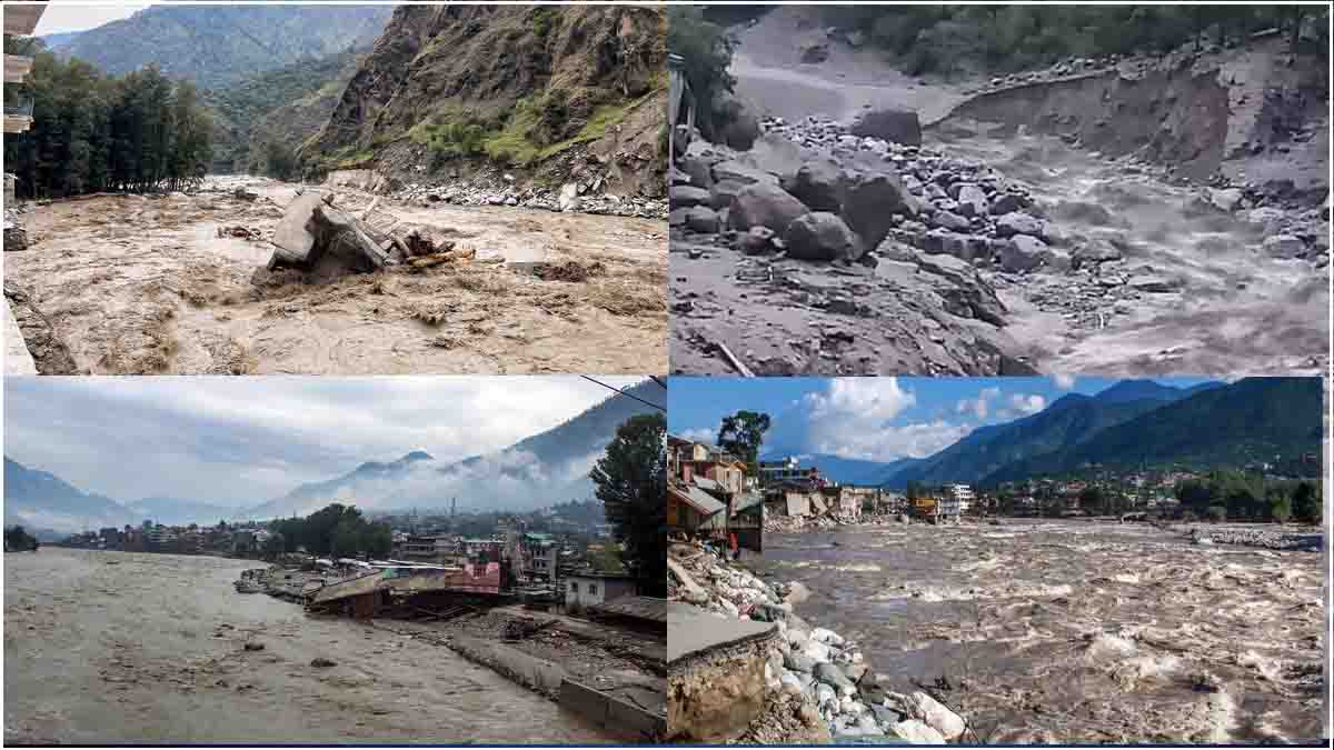
[[[139,523],[125,506],[111,498],[84,492],[55,474],[29,468],[8,456],[4,459],[5,524],[63,532]]]

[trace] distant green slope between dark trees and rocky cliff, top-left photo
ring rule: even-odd
[[[271,141],[295,152],[328,120],[359,61],[358,51],[343,49],[205,91],[215,124],[211,171],[260,171]]]

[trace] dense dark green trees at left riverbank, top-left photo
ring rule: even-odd
[[[108,76],[40,49],[5,37],[7,53],[35,53],[28,77],[4,92],[5,107],[32,103],[32,128],[4,139],[19,195],[179,191],[203,180],[213,125],[193,84],[153,65]]]

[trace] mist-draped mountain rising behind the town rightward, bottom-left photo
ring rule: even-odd
[[[652,382],[626,391],[650,403],[664,400],[662,387]],[[300,515],[331,502],[395,510],[443,508],[458,499],[459,510],[531,510],[554,502],[587,499],[592,494],[588,470],[615,436],[616,427],[636,414],[651,411],[618,394],[494,454],[448,464],[424,451],[390,463],[368,462],[342,476],[301,484],[240,515],[256,519]]]

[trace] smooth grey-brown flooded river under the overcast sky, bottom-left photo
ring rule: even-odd
[[[607,741],[448,649],[235,593],[252,565],[53,547],[5,555],[5,742]],[[316,657],[336,665],[312,667]]]

